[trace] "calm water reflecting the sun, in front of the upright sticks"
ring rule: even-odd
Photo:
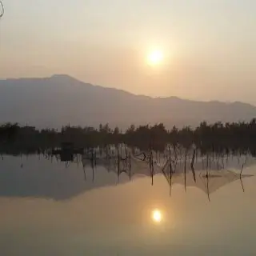
[[[103,166],[93,173],[81,163],[5,156],[0,255],[256,254],[255,177],[242,184],[218,172],[207,183],[198,170],[196,183],[188,173],[185,187],[178,174],[170,191],[163,174],[151,186],[151,177],[139,173],[131,181],[121,174],[118,182]],[[243,172],[255,173],[254,162]]]

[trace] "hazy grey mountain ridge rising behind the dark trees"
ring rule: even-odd
[[[150,98],[80,82],[67,75],[0,80],[0,122],[32,126],[110,126],[163,122],[197,126],[200,122],[250,121],[256,107],[242,102],[195,102]]]

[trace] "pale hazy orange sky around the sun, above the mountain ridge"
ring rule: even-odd
[[[0,78],[70,74],[151,96],[256,104],[255,0],[3,0]],[[152,48],[161,66],[148,66]]]

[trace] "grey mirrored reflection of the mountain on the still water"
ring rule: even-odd
[[[162,175],[165,177],[166,186],[170,186],[170,192],[178,184],[183,186],[187,192],[190,192],[189,187],[198,188],[206,193],[206,198],[208,196],[210,199],[211,194],[214,194],[219,188],[227,186],[231,182],[239,181],[239,179],[242,182],[244,178],[251,177],[246,174],[242,174],[240,177],[241,165],[238,164],[237,158],[232,159],[232,157],[228,159],[228,162],[225,162],[225,169],[223,170],[217,170],[216,164],[212,163],[208,175],[206,175],[206,170],[202,170],[202,159],[198,158],[194,163],[196,182],[194,182],[193,173],[189,167],[186,171],[185,183],[184,162],[177,163],[176,170],[170,180],[169,165],[168,163],[165,164],[163,159],[160,159],[162,162],[154,162],[154,175],[151,176],[149,162],[143,160],[142,157],[136,158],[132,155],[131,168],[126,166],[125,161],[121,161],[119,171],[117,158],[105,158],[104,155],[102,158],[98,158],[100,155],[98,152],[96,153],[97,160],[94,165],[91,164],[89,158],[80,154],[76,154],[73,162],[69,162],[67,165],[65,162],[59,162],[60,159],[56,156],[49,159],[42,158],[42,155],[41,158],[36,155],[28,158],[5,156],[3,161],[0,160],[0,196],[65,200],[92,189],[134,182],[141,177],[150,178],[150,180],[151,177],[154,178],[154,186],[158,187],[159,175]],[[163,154],[161,158],[163,158]],[[239,158],[240,162],[244,162],[244,156]],[[255,163],[253,158],[248,157],[246,166]],[[189,166],[189,162],[186,163],[186,166]],[[148,182],[150,183],[150,181]],[[236,183],[236,188],[241,191],[246,190],[246,186],[241,182]],[[163,183],[161,184],[163,185]],[[174,190],[173,194],[176,193]]]

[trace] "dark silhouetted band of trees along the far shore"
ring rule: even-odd
[[[125,131],[118,127],[111,129],[109,124],[101,124],[98,128],[67,125],[61,130],[38,130],[10,122],[0,126],[1,154],[33,154],[60,147],[62,142],[71,142],[74,147],[83,149],[125,143],[141,150],[163,151],[166,146],[181,146],[186,150],[194,147],[202,154],[213,151],[256,155],[256,118],[250,122],[201,122],[194,129],[174,126],[171,130],[167,130],[163,123],[131,125]]]

